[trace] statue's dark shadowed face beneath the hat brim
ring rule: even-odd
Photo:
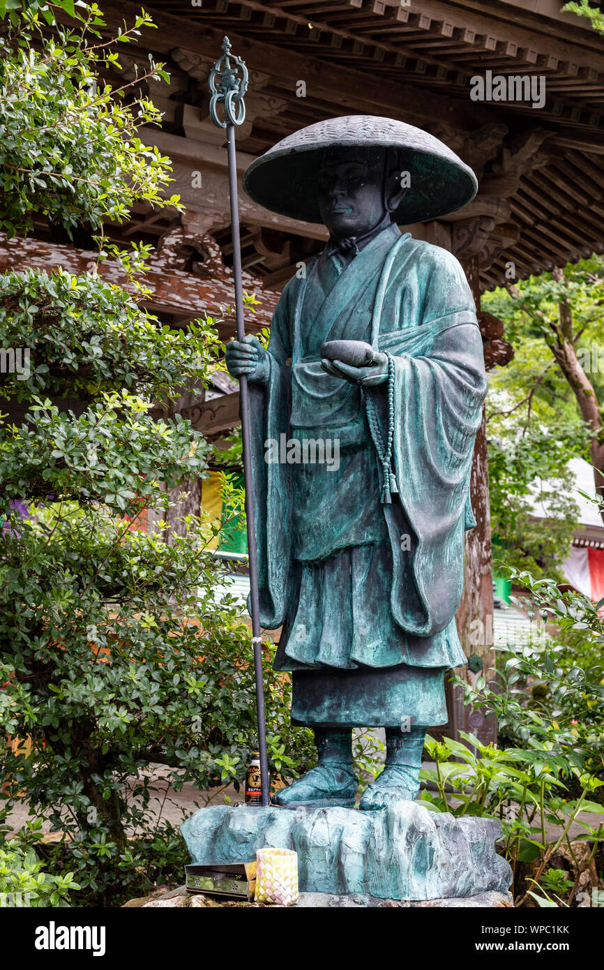
[[[384,215],[382,151],[368,155],[354,148],[326,152],[319,170],[321,218],[334,239],[363,236]]]

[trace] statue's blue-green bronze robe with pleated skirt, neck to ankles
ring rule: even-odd
[[[455,611],[487,392],[472,294],[451,253],[394,225],[348,265],[324,250],[301,276],[274,311],[268,384],[250,385],[261,622],[283,625],[274,666],[293,671],[294,723],[443,724],[443,671],[465,663]],[[331,339],[393,356],[390,504],[360,387],[321,369]],[[387,384],[368,393],[386,438]],[[331,441],[332,467],[271,460],[285,440],[295,457],[296,438]]]

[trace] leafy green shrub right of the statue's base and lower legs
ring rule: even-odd
[[[513,578],[529,591],[530,609],[555,624],[560,635],[572,631],[601,651],[604,620],[587,597],[561,596],[554,580],[535,580],[526,572]],[[474,684],[459,677],[455,682],[466,704],[496,716],[507,743],[483,744],[464,733],[465,743],[429,738],[435,767],[422,777],[436,791],[422,792],[422,804],[501,822],[518,904],[531,891],[523,864],[535,862],[534,883],[551,888],[554,877],[548,881],[544,873],[559,846],[569,845],[573,823],[583,828],[579,838],[590,843],[590,858],[604,841],[604,680],[598,668],[586,671],[569,660],[555,636],[547,645],[508,644],[501,652],[505,663],[490,672],[491,681],[479,676]],[[538,700],[531,692],[535,687],[545,688]],[[586,813],[601,816],[602,823],[591,824]],[[549,826],[554,836],[548,836]],[[568,889],[574,893],[572,883]]]

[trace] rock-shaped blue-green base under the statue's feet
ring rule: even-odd
[[[213,806],[181,828],[197,864],[295,849],[301,892],[413,901],[507,894],[512,870],[494,849],[501,826],[400,801],[379,812]]]

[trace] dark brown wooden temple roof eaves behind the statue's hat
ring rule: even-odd
[[[166,114],[162,132],[145,136],[175,159],[175,190],[211,228],[228,263],[226,153],[207,117],[207,74],[228,33],[250,69],[249,121],[238,132],[241,170],[286,134],[334,114],[383,113],[425,128],[479,178],[474,202],[443,222],[453,251],[478,254],[481,288],[492,288],[505,281],[510,262],[522,278],[604,250],[604,39],[588,20],[560,13],[561,6],[149,0],[158,29],[143,32],[139,49],[128,54],[144,60],[145,47],[152,49],[172,81],[169,91],[151,85]],[[104,8],[113,22],[138,9]],[[545,79],[545,104],[472,101],[471,79],[487,71]],[[205,194],[187,184],[196,159]],[[245,198],[241,219],[244,265],[270,290],[280,289],[323,239],[322,227],[259,211]],[[153,214],[138,225],[151,233],[166,228]]]

